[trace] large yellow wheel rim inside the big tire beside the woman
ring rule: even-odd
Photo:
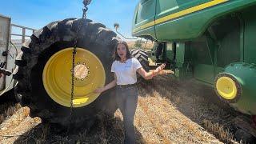
[[[43,86],[50,98],[70,107],[73,48],[58,51],[46,62],[42,74]],[[102,62],[88,50],[77,48],[74,68],[74,107],[89,105],[98,98],[94,90],[106,80]]]

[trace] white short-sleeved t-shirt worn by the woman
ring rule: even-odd
[[[136,58],[130,58],[123,63],[114,61],[111,66],[111,72],[116,74],[118,85],[128,85],[137,82],[136,70],[141,67],[141,63]]]

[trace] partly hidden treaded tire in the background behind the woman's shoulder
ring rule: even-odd
[[[150,70],[150,66],[149,66],[150,62],[148,60],[149,57],[145,50],[133,49],[133,50],[130,50],[130,53],[134,58],[138,59],[138,61],[141,63],[144,70],[146,70],[146,71]]]

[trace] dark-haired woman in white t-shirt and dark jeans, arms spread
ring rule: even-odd
[[[145,79],[151,79],[157,75],[165,64],[158,66],[152,72],[146,72],[136,58],[132,58],[126,42],[118,42],[114,53],[114,62],[111,66],[111,72],[114,73],[114,80],[102,88],[95,90],[96,93],[102,93],[105,90],[117,85],[117,103],[121,110],[124,128],[124,143],[134,143],[134,114],[138,103],[138,90],[135,85],[137,82],[136,72]]]

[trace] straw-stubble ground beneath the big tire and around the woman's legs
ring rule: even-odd
[[[212,90],[191,82],[163,76],[142,83],[134,121],[136,142],[234,143],[234,110],[218,103]],[[90,132],[65,134],[42,124],[40,118],[30,118],[27,107],[10,107],[15,108],[11,108],[14,114],[3,112],[1,116],[1,143],[121,143],[123,139],[119,110],[114,119],[98,120]]]

